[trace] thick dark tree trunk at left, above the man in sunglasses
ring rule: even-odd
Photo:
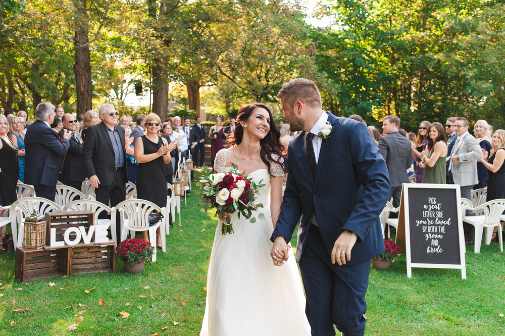
[[[91,84],[91,60],[89,55],[88,24],[89,16],[86,8],[86,0],[76,2],[76,29],[74,38],[75,64],[75,88],[77,98],[77,115],[84,114],[93,108],[92,84]],[[79,7],[80,5],[80,7]]]

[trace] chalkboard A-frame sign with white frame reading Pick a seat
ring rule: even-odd
[[[413,267],[424,267],[461,269],[466,279],[459,185],[403,183],[398,217],[397,243],[405,238],[409,278]]]

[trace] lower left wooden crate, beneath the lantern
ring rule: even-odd
[[[70,249],[33,250],[16,248],[14,274],[22,282],[69,274]]]

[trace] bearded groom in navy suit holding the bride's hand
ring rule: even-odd
[[[333,324],[342,335],[363,335],[370,259],[384,251],[379,214],[391,189],[386,163],[364,123],[322,110],[313,81],[293,79],[277,98],[290,131],[304,132],[289,144],[270,254],[275,265],[287,260],[301,215],[296,261],[312,335],[334,336]]]

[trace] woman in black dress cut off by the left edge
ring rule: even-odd
[[[7,118],[0,114],[0,205],[11,205],[18,198],[16,184],[19,176],[18,149],[7,136]],[[0,210],[0,217],[4,210]],[[0,241],[4,237],[5,226],[0,227]]]

